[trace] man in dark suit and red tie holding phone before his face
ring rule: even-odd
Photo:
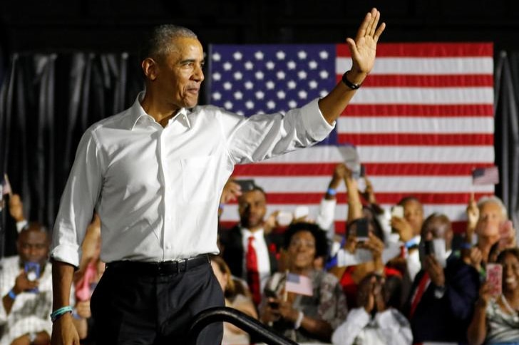
[[[479,274],[451,250],[453,230],[445,215],[423,222],[418,246],[422,269],[404,306],[415,344],[424,341],[466,343]]]

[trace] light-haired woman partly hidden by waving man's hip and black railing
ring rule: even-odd
[[[232,279],[230,269],[224,259],[216,255],[212,256],[211,266],[224,292],[225,306],[242,311],[257,319],[256,307],[252,302],[250,292],[242,286],[241,282]],[[248,345],[250,344],[250,336],[237,326],[224,322],[222,345],[227,344]]]

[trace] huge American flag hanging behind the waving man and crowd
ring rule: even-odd
[[[273,113],[324,96],[351,67],[345,44],[212,45],[210,103],[243,115]],[[355,145],[379,203],[386,208],[415,195],[426,215],[441,212],[461,231],[473,168],[494,165],[492,43],[381,43],[374,70],[329,138],[262,163],[238,165],[234,176],[252,178],[267,192],[267,212],[307,205],[317,215],[338,148]],[[338,193],[336,231],[347,215]],[[224,225],[238,220],[228,205]]]

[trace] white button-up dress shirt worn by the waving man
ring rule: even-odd
[[[83,134],[54,225],[54,259],[78,266],[94,208],[104,262],[217,253],[220,194],[235,164],[313,145],[333,129],[317,100],[250,118],[210,105],[183,108],[163,128],[142,98]]]

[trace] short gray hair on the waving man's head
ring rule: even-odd
[[[173,24],[156,26],[140,49],[140,61],[145,58],[163,58],[174,50],[175,47],[171,44],[173,38],[179,37],[197,38],[194,32],[183,26]]]

